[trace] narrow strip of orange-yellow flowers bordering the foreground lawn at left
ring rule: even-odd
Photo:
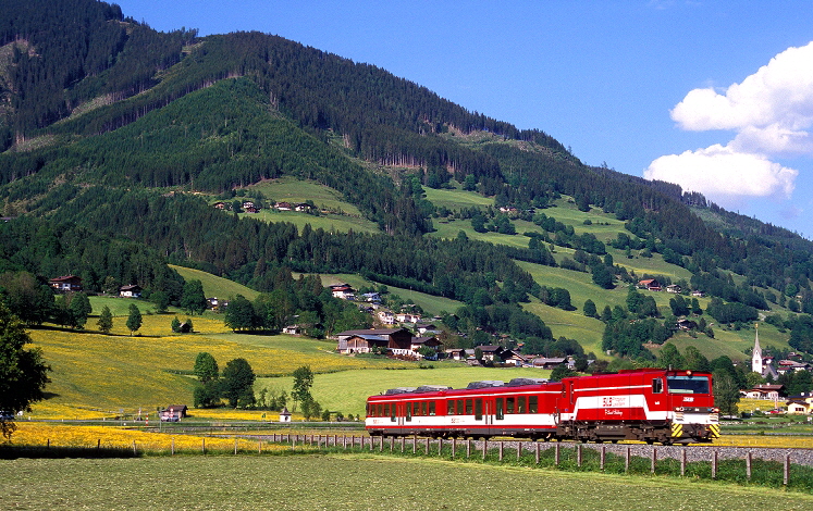
[[[125,429],[118,426],[65,426],[59,424],[19,423],[12,436],[12,445],[42,447],[97,447],[132,448],[135,443],[139,451],[168,452],[200,451],[206,441],[207,450],[233,450],[234,438],[211,438],[192,435],[168,435]],[[237,439],[239,450],[259,450],[254,440]],[[262,450],[283,450],[290,447],[263,443]]]

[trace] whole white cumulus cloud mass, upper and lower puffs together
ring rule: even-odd
[[[813,42],[789,48],[727,89],[689,91],[670,112],[687,130],[734,130],[726,145],[664,155],[644,171],[714,200],[789,198],[798,171],[771,159],[813,154]]]

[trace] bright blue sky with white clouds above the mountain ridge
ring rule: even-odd
[[[118,3],[159,30],[259,30],[378,65],[813,237],[810,0]]]

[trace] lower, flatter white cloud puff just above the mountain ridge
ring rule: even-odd
[[[706,149],[669,154],[653,161],[643,173],[646,179],[677,183],[685,190],[713,198],[747,196],[790,197],[798,172],[760,154],[737,152],[714,145]]]

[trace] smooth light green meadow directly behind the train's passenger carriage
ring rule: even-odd
[[[505,382],[519,377],[545,378],[550,371],[538,369],[489,369],[470,367],[461,363],[432,363],[435,369],[407,369],[399,371],[373,370],[347,371],[334,374],[319,374],[313,378],[311,394],[322,408],[341,411],[345,415],[365,414],[367,398],[395,387],[419,387],[421,385],[446,385],[463,388],[469,382],[480,379],[503,379]],[[255,391],[260,388],[285,389],[293,387],[293,378],[261,378],[255,384]]]

